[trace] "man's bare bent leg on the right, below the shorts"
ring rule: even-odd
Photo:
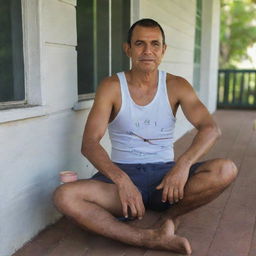
[[[163,215],[163,219],[183,215],[215,199],[237,176],[237,168],[231,160],[215,159],[203,163],[189,178],[184,197]]]

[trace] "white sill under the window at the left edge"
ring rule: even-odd
[[[47,115],[46,106],[22,106],[0,110],[0,124]]]

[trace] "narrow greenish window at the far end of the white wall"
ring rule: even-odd
[[[195,48],[194,48],[194,75],[193,75],[193,85],[196,91],[200,90],[201,32],[202,32],[202,0],[197,0],[196,1]]]

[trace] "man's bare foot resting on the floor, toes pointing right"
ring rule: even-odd
[[[152,249],[169,250],[190,255],[192,250],[189,241],[185,237],[175,235],[174,230],[174,222],[166,220],[159,229],[155,230],[155,239],[149,246]]]

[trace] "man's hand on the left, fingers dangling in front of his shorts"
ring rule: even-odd
[[[130,209],[133,218],[142,219],[145,214],[145,207],[142,201],[142,195],[137,187],[129,179],[117,187],[124,217],[128,218],[128,211]]]

